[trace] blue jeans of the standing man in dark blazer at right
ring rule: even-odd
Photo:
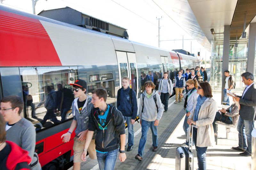
[[[239,117],[237,124],[238,147],[246,149],[246,152],[252,153],[252,130],[254,121],[247,121]]]

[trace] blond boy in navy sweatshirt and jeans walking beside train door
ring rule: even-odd
[[[117,92],[117,109],[122,112],[124,120],[128,127],[128,148],[127,152],[132,150],[134,141],[133,124],[135,122],[138,106],[136,92],[130,87],[130,78],[122,78],[122,88]]]

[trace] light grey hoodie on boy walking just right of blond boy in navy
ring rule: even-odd
[[[148,99],[146,90],[143,93],[145,95],[144,102],[142,99],[142,94],[140,94],[140,112],[139,112],[140,119],[148,122],[160,120],[163,115],[164,108],[163,108],[159,94],[156,92],[156,90],[153,90],[152,95]],[[156,103],[153,99],[154,95],[156,95]],[[158,112],[157,112],[156,105],[158,107]],[[142,113],[142,107],[143,107],[143,113]]]

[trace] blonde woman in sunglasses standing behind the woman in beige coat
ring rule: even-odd
[[[196,88],[198,87],[198,82],[196,79],[188,79],[186,82],[187,88],[188,88],[188,93],[185,99],[185,103],[184,103],[184,110],[186,110],[186,116],[184,119],[184,123],[183,123],[183,130],[185,132],[185,134],[187,135],[188,133],[188,128],[189,125],[187,123],[188,120],[188,116],[190,115],[191,110],[194,107],[194,104],[197,100],[197,97],[199,94],[196,93]],[[182,94],[183,96],[183,94]],[[186,146],[188,145],[188,141],[186,140],[186,143],[182,146]]]

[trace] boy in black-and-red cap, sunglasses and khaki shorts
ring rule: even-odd
[[[72,113],[74,119],[68,129],[68,132],[63,134],[63,142],[69,142],[72,132],[75,130],[76,136],[74,137],[74,170],[79,170],[81,166],[81,162],[84,162],[81,159],[81,154],[84,149],[84,144],[86,141],[86,134],[88,132],[88,124],[89,124],[89,116],[91,114],[93,104],[92,98],[86,95],[87,83],[78,79],[75,83],[70,84],[73,85],[73,92],[76,99],[72,103]],[[88,153],[91,159],[96,159],[96,150],[94,139],[91,141],[88,147]]]

